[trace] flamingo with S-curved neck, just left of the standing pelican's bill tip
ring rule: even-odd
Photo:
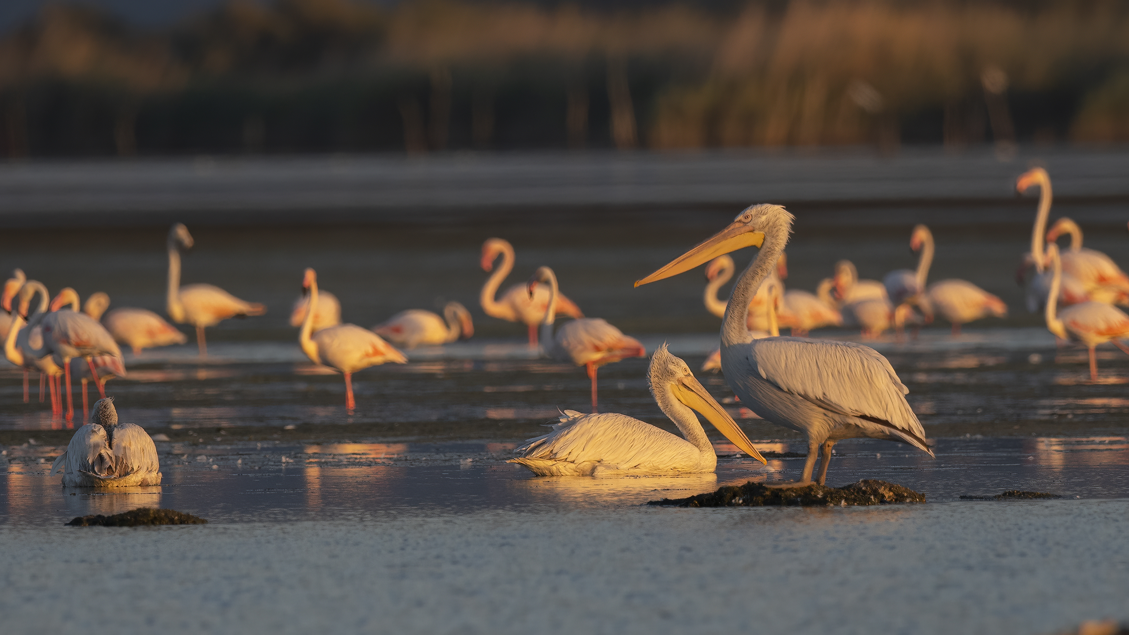
[[[545,314],[549,305],[549,290],[537,287],[533,297],[530,297],[525,285],[514,285],[506,289],[501,299],[496,301],[498,287],[501,281],[514,270],[514,246],[508,241],[501,238],[488,238],[482,243],[482,270],[491,271],[493,261],[501,255],[501,267],[495,271],[487,282],[482,285],[482,293],[479,302],[482,311],[491,318],[498,318],[508,322],[524,322],[530,329],[530,348],[537,347],[537,324]],[[558,315],[569,318],[584,318],[580,307],[563,295],[557,298]]]

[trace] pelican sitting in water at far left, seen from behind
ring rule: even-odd
[[[63,487],[160,485],[157,446],[141,426],[117,423],[113,397],[95,402],[90,420],[75,432],[51,473],[60,467]]]

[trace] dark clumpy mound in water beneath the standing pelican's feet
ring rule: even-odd
[[[674,507],[763,507],[769,505],[847,506],[925,503],[925,495],[884,480],[866,479],[843,487],[808,485],[780,489],[749,481],[689,498],[663,498],[648,505]]]

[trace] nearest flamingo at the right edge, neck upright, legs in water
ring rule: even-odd
[[[1051,288],[1044,308],[1047,330],[1058,338],[1084,345],[1089,350],[1089,381],[1097,381],[1097,356],[1094,349],[1109,341],[1129,354],[1129,348],[1118,341],[1129,338],[1129,315],[1102,302],[1084,302],[1058,311],[1058,287],[1062,278],[1058,245],[1047,245],[1047,255],[1052,269]]]

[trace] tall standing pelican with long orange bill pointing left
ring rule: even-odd
[[[729,296],[721,325],[721,371],[745,407],[807,436],[803,476],[786,486],[812,482],[821,446],[819,481],[824,482],[831,449],[843,438],[898,441],[931,456],[925,429],[905,402],[908,390],[890,362],[873,348],[806,338],[750,337],[744,315],[749,297],[788,243],[791,221],[793,216],[780,206],[751,206],[721,232],[636,281],[636,286],[689,271],[721,253],[763,245]]]

